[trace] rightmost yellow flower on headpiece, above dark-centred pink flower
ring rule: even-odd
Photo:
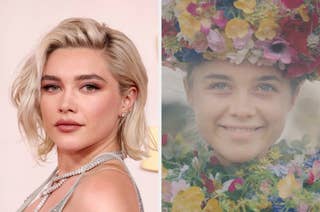
[[[259,40],[272,40],[276,34],[279,25],[272,19],[263,19],[260,24],[258,30],[255,32],[255,36]]]

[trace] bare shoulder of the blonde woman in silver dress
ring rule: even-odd
[[[86,175],[70,203],[80,211],[139,211],[136,191],[128,173],[114,163]]]

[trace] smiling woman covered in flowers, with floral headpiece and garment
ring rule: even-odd
[[[164,136],[165,210],[320,210],[319,147],[277,142],[302,82],[318,79],[319,27],[318,1],[163,5],[164,65],[186,71],[205,141]]]

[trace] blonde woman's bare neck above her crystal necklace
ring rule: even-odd
[[[64,151],[58,148],[59,174],[76,170],[103,152],[117,151],[121,151],[121,147],[116,139],[112,139],[110,142],[103,142],[103,144],[97,143],[79,151]]]

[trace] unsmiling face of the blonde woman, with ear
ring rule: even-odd
[[[44,129],[58,150],[75,152],[112,143],[119,117],[132,101],[120,95],[119,83],[99,50],[65,48],[49,56],[40,110]]]

